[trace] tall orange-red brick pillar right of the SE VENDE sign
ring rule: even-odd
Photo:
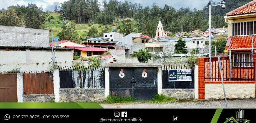
[[[205,58],[198,59],[198,99],[205,99]]]

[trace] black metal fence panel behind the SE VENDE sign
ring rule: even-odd
[[[192,81],[174,81],[169,82],[169,72],[171,69],[191,69]],[[195,88],[195,65],[175,65],[162,66],[162,88]]]

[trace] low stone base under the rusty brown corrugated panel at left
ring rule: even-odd
[[[54,94],[23,95],[23,102],[55,102]]]

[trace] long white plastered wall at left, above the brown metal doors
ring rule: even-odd
[[[72,51],[56,51],[55,62],[59,66],[72,66]],[[41,71],[49,70],[52,66],[51,51],[30,50],[29,55],[26,51],[0,50],[0,71],[11,71],[20,67],[21,71]],[[26,59],[30,62],[26,64]]]

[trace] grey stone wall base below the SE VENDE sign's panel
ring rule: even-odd
[[[162,89],[162,94],[177,100],[195,99],[195,89]]]

